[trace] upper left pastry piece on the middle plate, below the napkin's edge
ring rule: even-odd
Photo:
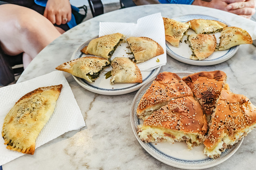
[[[122,33],[113,33],[111,35],[92,39],[89,45],[84,47],[81,52],[108,59],[114,53],[122,38]]]

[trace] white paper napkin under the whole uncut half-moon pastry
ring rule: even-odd
[[[53,86],[58,84],[62,84],[63,86],[60,96],[57,100],[55,110],[50,117],[50,120],[45,124],[44,128],[36,139],[36,148],[59,137],[63,133],[71,130],[81,129],[83,126],[85,126],[81,110],[76,103],[73,92],[71,91],[65,76],[61,71],[54,71],[35,79],[0,88],[1,132],[5,116],[23,95],[39,87]],[[25,154],[6,149],[4,139],[0,139],[0,165],[6,164],[22,155]]]

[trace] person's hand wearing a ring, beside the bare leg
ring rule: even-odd
[[[68,0],[48,0],[44,16],[53,24],[65,24],[71,20],[71,5]]]

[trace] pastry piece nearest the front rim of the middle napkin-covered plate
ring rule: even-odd
[[[116,57],[111,62],[112,78],[110,83],[142,83],[142,75],[138,66],[129,58]]]

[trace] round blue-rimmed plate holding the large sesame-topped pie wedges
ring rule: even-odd
[[[177,73],[179,77],[185,77],[191,73],[189,72],[180,72]],[[188,150],[188,147],[185,142],[174,142],[173,144],[169,142],[154,142],[154,143],[145,143],[142,142],[137,134],[138,125],[143,124],[143,121],[137,117],[137,107],[140,102],[141,97],[147,89],[150,87],[151,83],[146,83],[136,94],[132,101],[131,106],[131,125],[132,130],[135,134],[135,137],[139,141],[140,145],[154,158],[159,161],[171,165],[178,168],[184,169],[203,169],[216,166],[233,154],[235,154],[236,150],[241,146],[243,139],[236,143],[231,149],[226,149],[225,152],[222,152],[221,156],[218,159],[212,159],[204,155],[203,145],[199,145],[194,147],[192,150]]]

